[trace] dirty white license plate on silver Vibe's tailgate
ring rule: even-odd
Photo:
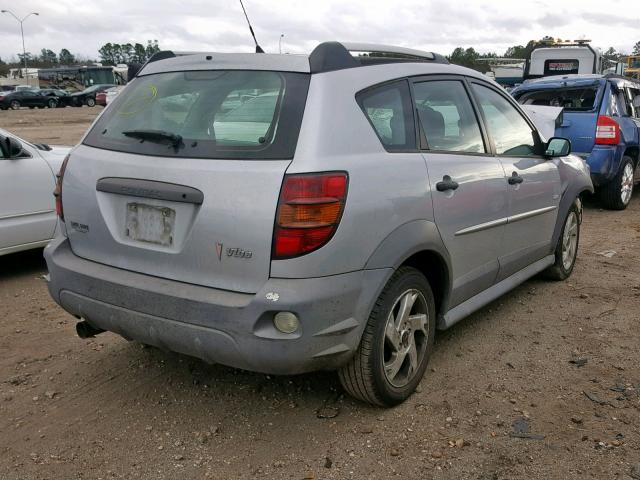
[[[172,208],[127,204],[126,235],[132,240],[171,246],[175,222],[176,212]]]

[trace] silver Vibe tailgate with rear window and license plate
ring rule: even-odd
[[[269,277],[278,196],[307,88],[308,75],[279,72],[137,78],[69,160],[62,202],[74,253],[258,291]]]

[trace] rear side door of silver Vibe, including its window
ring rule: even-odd
[[[413,96],[434,217],[451,256],[455,306],[495,282],[507,182],[462,78],[417,79]]]

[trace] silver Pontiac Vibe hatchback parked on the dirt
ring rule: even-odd
[[[393,405],[436,327],[571,274],[588,169],[481,74],[337,42],[161,57],[63,167],[66,236],[45,256],[80,336],[337,369]]]

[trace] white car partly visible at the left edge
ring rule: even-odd
[[[34,145],[0,129],[0,256],[44,247],[55,237],[53,190],[69,151]]]

